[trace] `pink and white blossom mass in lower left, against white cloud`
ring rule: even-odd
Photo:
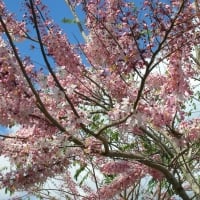
[[[75,156],[70,150],[65,153],[60,151],[60,148],[65,148],[63,137],[60,140],[59,137],[45,139],[38,135],[37,141],[31,135],[24,139],[19,135],[14,137],[16,142],[7,139],[1,153],[10,157],[16,170],[1,175],[1,187],[29,189],[35,183],[44,183],[48,177],[63,173],[68,168],[69,158]]]

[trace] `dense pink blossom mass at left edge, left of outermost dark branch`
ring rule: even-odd
[[[11,50],[2,38],[0,43],[0,121],[3,125],[24,123],[26,117],[35,110],[32,94]],[[29,69],[28,73],[31,74],[31,71]]]

